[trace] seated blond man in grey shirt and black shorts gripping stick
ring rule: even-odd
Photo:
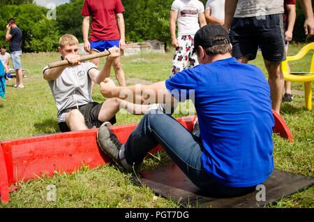
[[[80,62],[75,36],[61,36],[58,50],[61,59],[67,60],[68,65],[57,68],[46,66],[43,75],[57,105],[61,132],[99,128],[104,122],[114,124],[115,114],[120,108],[133,114],[144,114],[148,110],[149,105],[135,105],[119,98],[110,98],[103,103],[96,103],[91,98],[91,81],[100,84],[110,75],[112,62],[120,56],[118,47],[108,50],[110,55],[101,71],[91,62]],[[135,110],[141,112],[134,113]]]

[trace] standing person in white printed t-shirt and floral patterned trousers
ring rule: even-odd
[[[200,20],[200,24],[198,23]],[[178,37],[176,38],[176,22],[178,24]],[[189,67],[198,64],[193,53],[193,39],[195,32],[206,23],[204,5],[198,0],[175,0],[170,11],[170,34],[172,46],[176,48],[172,61],[170,77]]]

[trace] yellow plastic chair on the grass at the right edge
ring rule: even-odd
[[[312,81],[314,80],[314,53],[311,61],[310,72],[289,72],[287,68],[288,61],[299,60],[304,57],[308,51],[314,50],[314,43],[309,43],[301,48],[301,50],[294,56],[287,57],[281,64],[281,70],[283,71],[283,77],[285,81],[290,82],[304,82],[304,96],[306,102],[306,108],[312,110]]]

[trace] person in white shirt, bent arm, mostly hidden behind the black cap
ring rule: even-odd
[[[208,0],[205,6],[207,23],[225,24],[225,0]]]

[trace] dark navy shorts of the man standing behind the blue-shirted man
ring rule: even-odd
[[[232,55],[239,59],[256,57],[258,46],[268,61],[285,61],[283,14],[259,17],[234,17],[230,29]]]

